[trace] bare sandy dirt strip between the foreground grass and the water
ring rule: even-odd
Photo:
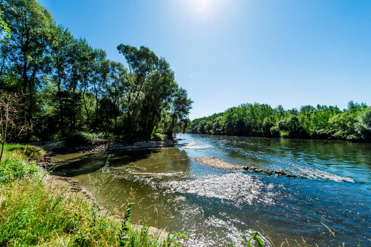
[[[95,198],[93,197],[92,193],[87,190],[85,187],[82,187],[80,183],[72,178],[65,178],[59,177],[55,175],[48,175],[47,182],[45,185],[50,191],[63,191],[65,192],[66,198],[78,198],[81,200],[85,200],[91,204],[95,203]],[[113,215],[114,219],[117,221],[121,221],[123,215],[119,214],[112,214],[110,211],[106,210],[101,205],[98,205],[100,214],[106,215],[111,214]],[[142,228],[143,225],[135,225],[138,229]],[[168,232],[156,227],[148,227],[148,234],[158,237],[158,241],[164,241],[165,238],[168,236]]]

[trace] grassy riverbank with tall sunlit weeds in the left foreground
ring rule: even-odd
[[[1,161],[0,178],[1,246],[177,246],[182,236],[134,224],[129,202],[125,215],[112,214],[97,203],[96,192],[47,174],[25,155]]]

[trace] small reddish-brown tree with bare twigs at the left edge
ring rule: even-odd
[[[0,91],[0,162],[4,153],[4,145],[23,135],[27,130],[26,123],[22,121],[23,98],[16,93]]]

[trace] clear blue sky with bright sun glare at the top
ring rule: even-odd
[[[75,37],[124,62],[119,43],[165,57],[190,118],[240,103],[371,104],[370,0],[39,0]]]

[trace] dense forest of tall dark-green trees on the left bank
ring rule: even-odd
[[[77,131],[171,138],[190,123],[193,101],[164,57],[121,43],[117,52],[126,63],[109,60],[36,0],[0,3],[0,92],[22,97],[23,141],[59,140]]]

